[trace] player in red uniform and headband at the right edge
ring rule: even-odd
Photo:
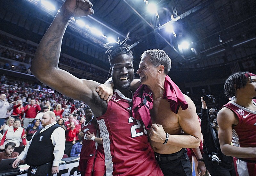
[[[235,157],[236,175],[256,173],[256,75],[238,72],[228,77],[224,92],[235,98],[222,106],[218,115],[221,151]],[[233,145],[232,145],[233,144]]]

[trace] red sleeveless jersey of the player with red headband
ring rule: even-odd
[[[256,105],[256,100],[252,99],[252,101]],[[233,128],[233,145],[236,147],[256,147],[256,112],[246,109],[233,101],[224,106],[231,109],[239,120],[238,124]],[[256,158],[244,159],[256,161]]]

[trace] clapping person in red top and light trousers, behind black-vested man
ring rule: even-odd
[[[27,128],[29,123],[31,123],[35,118],[38,111],[41,110],[39,102],[35,99],[30,100],[30,104],[26,105],[24,112],[26,113],[25,119],[23,120],[23,127]]]

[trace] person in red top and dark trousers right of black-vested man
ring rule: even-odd
[[[70,156],[70,151],[72,149],[72,146],[76,143],[76,135],[79,133],[78,130],[76,130],[75,123],[73,121],[70,122],[67,130],[66,130],[66,144],[65,144],[65,150],[64,153]]]

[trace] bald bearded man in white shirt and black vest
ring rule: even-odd
[[[26,158],[30,165],[28,176],[59,173],[59,162],[64,154],[65,131],[56,123],[56,116],[52,111],[44,113],[42,125],[44,128],[33,135],[27,147],[12,164],[16,168]]]

